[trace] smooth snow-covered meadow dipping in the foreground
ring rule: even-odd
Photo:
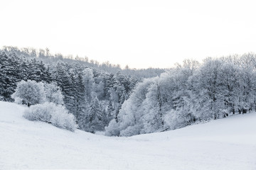
[[[134,137],[69,132],[0,102],[0,169],[256,169],[256,113]]]

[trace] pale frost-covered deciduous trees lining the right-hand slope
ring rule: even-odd
[[[256,55],[185,60],[134,88],[106,135],[174,130],[256,111]]]

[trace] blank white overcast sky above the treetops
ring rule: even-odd
[[[0,47],[131,68],[256,51],[256,1],[0,0]]]

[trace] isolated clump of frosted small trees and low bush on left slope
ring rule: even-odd
[[[77,128],[74,115],[63,106],[63,95],[54,83],[20,81],[11,97],[29,107],[23,115],[28,120],[50,123],[72,132]]]

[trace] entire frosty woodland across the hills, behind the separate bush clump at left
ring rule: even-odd
[[[48,49],[0,50],[0,98],[18,82],[55,84],[78,128],[131,136],[256,110],[256,55],[185,60],[171,69],[121,69]]]

